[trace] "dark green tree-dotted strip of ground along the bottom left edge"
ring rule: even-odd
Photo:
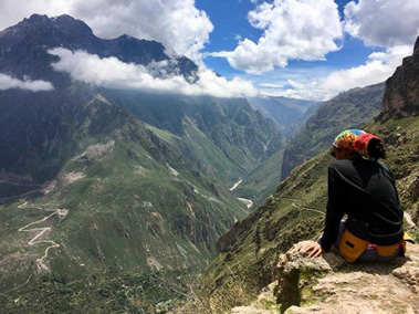
[[[185,300],[184,272],[113,269],[84,279],[44,274],[18,296],[1,295],[3,313],[167,313]]]

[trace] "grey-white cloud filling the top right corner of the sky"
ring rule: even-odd
[[[366,45],[412,45],[419,35],[418,0],[359,0],[345,7],[345,31]]]

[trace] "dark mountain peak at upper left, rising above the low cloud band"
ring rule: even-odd
[[[62,73],[56,73],[51,67],[56,57],[48,53],[49,49],[57,46],[71,51],[83,50],[99,57],[116,56],[122,62],[143,65],[170,59],[159,42],[138,40],[128,34],[113,40],[99,39],[85,22],[69,14],[53,18],[32,14],[1,31],[0,46],[0,72],[17,77],[30,75],[33,80],[44,81],[63,78]],[[188,77],[197,71],[197,65],[188,59],[179,57],[176,65],[167,71]]]

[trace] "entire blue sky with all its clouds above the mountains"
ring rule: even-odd
[[[387,80],[419,35],[418,0],[2,0],[0,29],[32,13],[70,14],[104,39],[156,40],[200,65],[196,84],[127,64],[114,82],[108,60],[57,51],[95,64],[72,71],[74,80],[224,97],[325,101]]]

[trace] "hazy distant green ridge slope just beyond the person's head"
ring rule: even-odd
[[[322,104],[287,145],[281,178],[286,178],[297,165],[329,147],[339,132],[359,127],[375,117],[384,88],[384,83],[354,88]]]

